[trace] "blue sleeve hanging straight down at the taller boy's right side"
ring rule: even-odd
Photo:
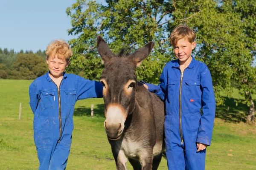
[[[215,117],[215,96],[212,86],[212,78],[209,68],[204,68],[201,72],[201,90],[202,90],[202,111],[198,135],[196,142],[210,145],[212,140],[212,129]]]

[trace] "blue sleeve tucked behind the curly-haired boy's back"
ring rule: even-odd
[[[29,105],[32,112],[35,114],[35,110],[38,107],[38,88],[37,84],[34,82],[29,85]]]

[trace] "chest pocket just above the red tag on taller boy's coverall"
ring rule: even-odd
[[[200,81],[186,80],[186,96],[188,99],[201,99]]]

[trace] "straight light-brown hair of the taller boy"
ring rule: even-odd
[[[187,26],[177,26],[170,36],[170,43],[172,46],[177,45],[180,39],[188,40],[190,43],[195,41],[195,32]]]

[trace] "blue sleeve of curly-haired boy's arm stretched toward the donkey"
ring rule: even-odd
[[[77,100],[102,97],[103,85],[100,82],[78,76],[77,85]]]

